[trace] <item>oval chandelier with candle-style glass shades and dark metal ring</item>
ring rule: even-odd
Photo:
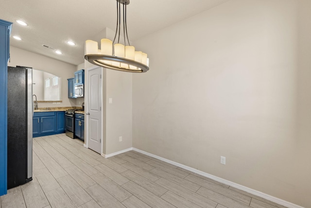
[[[117,29],[116,34],[111,41],[110,39],[101,40],[101,50],[98,49],[98,43],[93,40],[86,40],[85,59],[97,66],[107,69],[114,69],[127,72],[146,72],[149,70],[149,59],[147,54],[135,51],[134,46],[130,46],[126,27],[126,5],[130,0],[117,1]],[[124,44],[120,43],[121,34],[121,5],[123,6],[123,37]],[[128,45],[126,45],[126,40]]]

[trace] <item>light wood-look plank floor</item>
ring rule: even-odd
[[[135,151],[106,159],[65,134],[33,150],[33,181],[0,208],[284,208]]]

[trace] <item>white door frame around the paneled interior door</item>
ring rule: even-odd
[[[103,89],[104,89],[104,79],[103,79],[103,68],[102,67],[98,67],[98,66],[93,66],[93,67],[89,67],[85,69],[85,77],[86,79],[84,79],[84,106],[85,106],[85,112],[88,113],[88,72],[90,70],[93,69],[101,69],[101,75],[102,75],[102,94],[101,94],[101,108],[102,108],[102,115],[101,115],[101,138],[102,138],[102,142],[101,142],[101,155],[103,155],[103,143],[104,143],[104,134],[103,134],[103,118],[104,118],[104,106],[103,106]],[[85,143],[84,143],[84,147],[88,148],[88,125],[89,125],[89,116],[85,114]]]

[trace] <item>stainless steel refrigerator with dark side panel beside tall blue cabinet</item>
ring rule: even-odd
[[[8,67],[7,187],[33,177],[33,69]]]

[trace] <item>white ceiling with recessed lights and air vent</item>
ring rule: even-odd
[[[132,41],[228,0],[130,0],[127,29]],[[116,28],[116,0],[0,0],[0,19],[13,22],[11,46],[73,65],[84,62],[84,42]],[[25,21],[24,27],[16,23]],[[18,41],[12,36],[22,38]],[[76,43],[69,46],[68,40]],[[42,45],[58,49],[63,54]]]

